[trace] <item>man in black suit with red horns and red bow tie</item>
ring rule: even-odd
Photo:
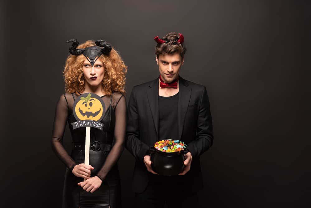
[[[179,76],[185,61],[184,37],[168,33],[155,41],[160,76],[134,86],[127,112],[125,145],[136,159],[136,205],[196,207],[196,192],[203,188],[200,155],[213,143],[209,99],[205,86]],[[185,168],[177,176],[158,175],[151,167],[149,147],[169,138],[188,145]]]

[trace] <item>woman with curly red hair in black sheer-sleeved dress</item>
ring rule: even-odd
[[[75,39],[67,42],[73,44],[63,72],[66,92],[56,106],[51,141],[55,154],[67,166],[63,207],[121,207],[116,162],[125,140],[126,101],[123,94],[127,66],[106,41],[86,41],[80,46]],[[84,93],[99,95],[106,109],[101,120],[103,129],[91,128],[90,165],[84,164],[86,128],[73,129],[71,125],[76,121],[72,111],[74,100]],[[73,139],[70,156],[62,144],[67,122]]]

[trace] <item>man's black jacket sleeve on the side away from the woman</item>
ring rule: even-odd
[[[196,126],[196,140],[191,141],[187,148],[193,158],[199,157],[213,144],[213,126],[210,113],[210,102],[206,87],[202,90],[199,115]]]

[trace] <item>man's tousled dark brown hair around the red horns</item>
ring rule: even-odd
[[[183,43],[180,44],[177,42],[179,38],[180,37],[176,32],[167,33],[167,35],[162,38],[164,41],[166,41],[166,43],[157,44],[157,46],[155,47],[157,57],[159,58],[160,54],[166,55],[179,53],[181,58],[184,58],[187,49]]]

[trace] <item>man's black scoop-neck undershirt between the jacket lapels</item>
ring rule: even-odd
[[[179,92],[170,97],[159,95],[159,139],[178,140],[177,106]]]

